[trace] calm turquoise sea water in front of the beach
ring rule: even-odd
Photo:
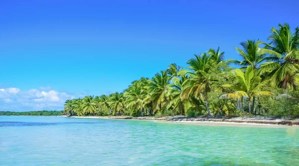
[[[0,116],[1,166],[299,165],[299,128]]]

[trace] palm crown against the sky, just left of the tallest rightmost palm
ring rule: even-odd
[[[242,61],[235,59],[228,59],[229,63],[234,63],[242,66],[242,68],[246,68],[247,66],[251,66],[254,69],[260,68],[260,65],[271,59],[268,57],[268,54],[277,54],[276,52],[269,50],[267,48],[261,48],[261,44],[265,44],[264,42],[258,40],[247,40],[246,42],[240,43],[243,47],[243,50],[239,47],[235,47],[239,55],[241,56]]]

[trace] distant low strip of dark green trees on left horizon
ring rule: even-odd
[[[21,116],[60,116],[63,111],[27,111],[27,112],[10,112],[10,111],[0,111],[0,116],[6,115],[21,115]]]

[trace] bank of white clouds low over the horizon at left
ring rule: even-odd
[[[63,110],[64,102],[74,98],[66,92],[50,89],[5,88],[0,89],[0,111]]]

